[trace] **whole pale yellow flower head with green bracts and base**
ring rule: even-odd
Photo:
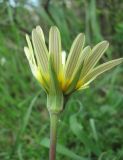
[[[53,105],[61,106],[57,107],[58,110],[62,110],[64,95],[87,88],[97,76],[123,62],[123,58],[119,58],[96,66],[109,43],[102,41],[93,48],[84,48],[83,33],[73,41],[66,58],[61,48],[60,32],[55,26],[49,32],[49,49],[40,26],[33,29],[32,41],[28,35],[26,39],[28,47],[24,47],[24,51],[32,73],[47,92],[49,102],[54,99]],[[61,99],[62,103],[59,102]],[[50,109],[53,105],[50,104]]]

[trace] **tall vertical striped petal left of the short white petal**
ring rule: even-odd
[[[59,76],[62,67],[61,37],[58,28],[55,26],[51,27],[49,33],[49,53],[52,57],[55,72]]]

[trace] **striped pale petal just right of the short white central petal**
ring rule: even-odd
[[[66,81],[69,81],[71,79],[76,69],[77,62],[78,62],[80,53],[82,52],[84,42],[85,42],[85,36],[84,34],[80,33],[72,44],[72,47],[70,49],[70,53],[68,55],[67,62],[65,65]]]

